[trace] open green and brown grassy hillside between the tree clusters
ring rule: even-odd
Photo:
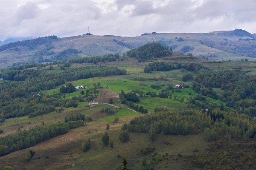
[[[188,131],[189,128],[193,129],[193,127],[198,127],[198,131],[196,133],[186,133],[186,135],[163,135],[159,134],[159,132],[156,134],[155,140],[150,141],[150,136],[148,133],[130,132],[130,140],[128,142],[120,142],[119,133],[124,123],[129,124],[129,122],[136,117],[145,118],[145,116],[151,116],[153,114],[161,115],[162,113],[154,113],[156,107],[161,107],[163,109],[172,111],[187,110],[189,106],[192,106],[189,105],[190,99],[193,99],[194,96],[198,95],[198,93],[194,90],[195,88],[192,88],[195,80],[183,82],[183,75],[192,74],[195,79],[196,74],[198,74],[197,72],[188,69],[174,69],[171,71],[152,71],[151,74],[146,74],[143,71],[146,64],[149,62],[132,65],[132,62],[137,59],[132,61],[130,59],[132,58],[128,58],[129,61],[126,61],[127,63],[130,62],[127,65],[120,64],[119,62],[110,62],[111,65],[115,64],[115,66],[117,66],[119,69],[125,69],[127,71],[126,75],[93,77],[88,79],[78,79],[76,81],[66,81],[64,84],[55,86],[54,89],[38,92],[42,95],[44,94],[43,97],[45,98],[46,96],[52,96],[52,98],[55,99],[64,99],[65,95],[65,99],[72,99],[74,96],[82,96],[81,91],[86,92],[87,89],[91,90],[91,92],[89,92],[90,95],[94,95],[94,84],[97,85],[99,82],[99,86],[102,86],[102,88],[97,88],[97,90],[99,90],[99,94],[95,94],[96,98],[92,99],[94,102],[86,102],[87,100],[85,97],[81,99],[81,101],[76,101],[78,103],[77,107],[64,108],[64,111],[62,112],[53,111],[31,118],[28,116],[13,117],[0,123],[0,129],[3,129],[3,133],[0,134],[0,137],[3,137],[17,132],[17,129],[29,130],[29,128],[32,127],[43,126],[43,124],[49,125],[64,122],[64,119],[67,116],[76,113],[81,113],[81,115],[86,117],[86,125],[70,129],[68,133],[50,138],[47,141],[39,142],[38,144],[29,147],[30,150],[34,150],[36,152],[35,156],[33,156],[29,162],[27,162],[27,158],[25,157],[26,149],[18,150],[5,156],[0,156],[0,169],[9,165],[12,167],[17,167],[17,169],[27,170],[116,170],[117,168],[122,168],[123,157],[128,160],[127,167],[134,168],[135,170],[140,170],[139,168],[142,168],[140,165],[144,159],[146,160],[146,164],[150,165],[148,168],[153,170],[206,170],[221,168],[224,170],[227,169],[227,166],[234,164],[234,166],[241,169],[253,170],[255,168],[255,140],[251,137],[249,139],[247,136],[234,139],[233,133],[232,135],[231,133],[227,133],[229,132],[228,130],[232,131],[239,128],[239,126],[230,123],[231,121],[238,121],[239,125],[251,125],[251,128],[255,128],[255,125],[253,124],[253,122],[255,122],[255,118],[250,119],[249,115],[243,113],[236,115],[235,113],[231,112],[235,112],[236,108],[228,108],[226,107],[226,102],[218,100],[219,98],[213,99],[210,96],[205,96],[206,101],[197,100],[196,102],[206,105],[205,108],[207,108],[208,105],[213,107],[212,110],[217,108],[217,110],[212,111],[211,114],[218,112],[218,116],[226,116],[223,122],[227,122],[227,125],[222,125],[221,123],[223,122],[221,119],[216,121],[219,123],[218,125],[214,124],[213,117],[211,117],[212,115],[201,112],[201,108],[198,107],[196,108],[197,110],[194,110],[197,111],[197,113],[189,114],[187,119],[182,119],[184,122],[181,122],[180,125],[176,126],[177,129],[182,129],[183,125],[185,126],[189,124],[187,120],[193,120],[193,116],[198,115],[200,119],[195,120],[192,127],[187,126]],[[202,65],[208,68],[204,71],[209,72],[224,71],[228,69],[230,72],[233,70],[241,70],[244,71],[246,75],[255,75],[256,73],[256,64],[250,61],[209,63],[210,60],[207,59],[199,59],[178,54],[171,57],[163,57],[161,60],[178,63],[201,62]],[[151,61],[154,61],[154,59]],[[98,63],[98,65],[108,64],[109,63]],[[71,64],[70,68],[81,68],[87,67],[88,65],[84,63],[73,63]],[[90,64],[90,66],[92,65]],[[45,68],[42,67],[40,70],[42,70],[43,73],[46,72],[47,74],[52,75],[67,71],[61,70],[58,65],[53,65],[53,70],[50,70],[49,67],[50,66],[46,66]],[[37,68],[29,69],[34,69],[37,71]],[[227,75],[229,75],[229,73]],[[243,73],[241,75],[245,77]],[[211,79],[214,79],[214,77]],[[19,82],[16,83],[18,84]],[[65,85],[66,83],[72,83],[74,86],[83,85],[87,86],[88,88],[79,89],[67,94],[58,94],[61,86]],[[140,101],[134,102],[134,105],[147,109],[148,114],[140,113],[137,110],[135,111],[134,108],[131,108],[129,105],[121,104],[119,102],[121,99],[120,95],[122,95],[120,94],[121,91],[124,91],[127,94],[129,92],[133,92],[134,90],[139,90],[145,93],[155,92],[158,95],[162,90],[166,90],[166,88],[169,88],[169,86],[174,87],[177,84],[183,86],[186,85],[186,88],[180,89],[180,91],[176,91],[179,89],[175,88],[173,90],[167,90],[172,93],[171,99],[170,97],[160,98],[158,96],[151,97],[150,95],[140,96],[139,94],[136,94]],[[161,88],[151,88],[151,85],[159,85]],[[213,91],[219,96],[226,93],[226,91],[221,90],[221,88],[213,88]],[[3,94],[1,94],[1,96],[3,96]],[[5,97],[7,98],[8,96]],[[32,96],[28,97],[34,99]],[[108,104],[109,99],[111,98],[113,99],[113,104]],[[3,97],[1,99],[3,99]],[[181,99],[184,99],[184,101],[181,101]],[[246,96],[246,100],[250,101],[252,98],[250,96]],[[36,101],[37,98],[31,100],[31,104],[34,104],[33,102]],[[103,103],[99,104],[98,102]],[[237,103],[238,102],[239,100]],[[225,106],[224,111],[218,110],[221,104]],[[56,108],[58,110],[61,107],[58,106]],[[106,108],[111,108],[114,111],[114,114],[105,113],[102,111],[102,109]],[[179,120],[179,116],[184,116],[183,113],[179,113],[180,114],[176,116],[170,115],[173,122],[175,122],[176,119]],[[113,122],[116,116],[118,116],[119,121]],[[201,122],[197,122],[199,120]],[[244,122],[241,123],[240,121]],[[160,128],[167,126],[166,122],[163,121],[163,124],[159,122],[155,121],[155,125],[160,125]],[[106,130],[107,124],[110,125],[109,130]],[[228,126],[228,124],[230,124],[230,126]],[[209,126],[211,130],[214,130],[214,125],[216,125],[215,128],[223,127],[222,131],[226,130],[224,132],[226,135],[221,136],[216,142],[207,142],[207,135],[204,133],[204,126],[206,125],[207,128]],[[139,129],[143,128],[143,125],[139,126]],[[169,130],[174,129],[171,127],[166,128]],[[113,148],[111,148],[109,145],[105,146],[102,144],[102,135],[105,132],[109,134],[110,141],[113,140]],[[239,134],[240,132],[244,135],[242,130],[239,131]],[[219,133],[223,132],[220,130]],[[250,134],[248,133],[248,135]],[[87,152],[83,152],[81,145],[88,139],[91,141],[91,148]],[[225,142],[221,142],[222,140]],[[142,150],[145,150],[147,147],[155,149],[153,149],[152,152],[145,154],[142,152]],[[208,168],[208,166],[210,168]]]

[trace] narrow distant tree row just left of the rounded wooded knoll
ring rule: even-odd
[[[74,58],[70,59],[70,63],[93,63],[97,64],[98,62],[111,62],[111,61],[125,61],[125,55],[120,56],[119,54],[105,54],[104,56],[90,56],[90,57],[82,57],[82,58]]]

